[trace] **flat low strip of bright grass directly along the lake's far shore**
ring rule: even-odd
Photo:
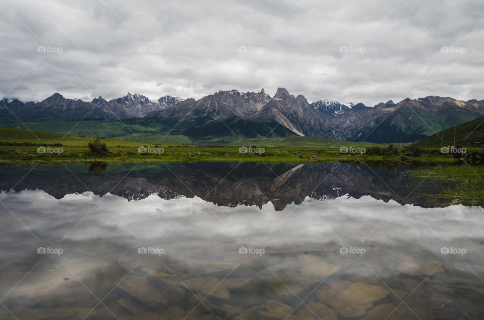
[[[339,148],[272,147],[263,153],[240,153],[238,147],[174,146],[159,153],[139,153],[134,147],[111,147],[105,156],[92,155],[87,147],[62,146],[59,153],[39,153],[37,146],[0,146],[0,164],[56,164],[82,162],[198,162],[243,161],[256,163],[282,162],[456,162],[456,159],[426,152],[419,156],[340,153]],[[154,148],[154,146],[152,147]],[[162,152],[161,152],[162,149]]]

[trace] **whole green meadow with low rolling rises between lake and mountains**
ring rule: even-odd
[[[180,138],[181,139],[181,138]],[[87,143],[92,137],[63,136],[57,133],[30,132],[28,130],[0,127],[0,164],[27,163],[49,164],[59,162],[196,162],[196,161],[248,161],[248,162],[310,162],[310,161],[340,161],[340,162],[453,162],[453,158],[445,157],[429,150],[418,156],[408,157],[406,148],[395,148],[392,153],[341,153],[340,147],[369,148],[377,145],[366,142],[347,142],[320,137],[254,138],[236,140],[231,146],[194,146],[175,143],[157,143],[153,141],[132,141],[101,139],[106,143],[109,154],[105,156],[92,155]],[[181,139],[183,140],[183,139]],[[30,145],[23,145],[29,143]],[[48,152],[38,152],[39,146],[56,144],[60,149],[47,149]],[[138,152],[145,146],[146,153]],[[252,151],[247,147],[252,146]],[[257,147],[256,147],[257,146]],[[246,147],[245,149],[240,149]],[[244,152],[245,151],[245,152]]]

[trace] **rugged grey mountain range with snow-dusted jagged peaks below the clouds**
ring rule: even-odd
[[[85,102],[55,93],[40,102],[0,101],[0,125],[45,123],[40,129],[49,131],[55,127],[52,122],[123,119],[123,123],[145,130],[156,128],[160,133],[196,138],[292,134],[376,143],[413,142],[482,116],[484,100],[429,96],[369,107],[326,100],[309,103],[304,96],[294,97],[284,88],[277,89],[273,97],[262,89],[219,91],[198,100],[164,96],[151,101],[128,93],[109,101],[99,97]]]

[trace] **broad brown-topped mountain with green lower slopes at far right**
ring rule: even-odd
[[[484,101],[452,98],[409,98],[372,109],[345,112],[330,121],[348,140],[376,143],[412,142],[484,115]]]

